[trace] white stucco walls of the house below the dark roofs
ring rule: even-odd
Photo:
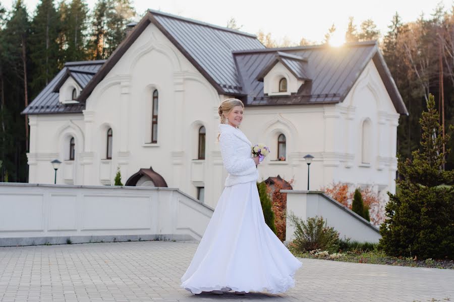
[[[157,143],[150,141],[151,99],[159,92]],[[93,90],[83,114],[31,115],[31,183],[53,183],[50,161],[67,158],[68,137],[76,138],[76,160],[64,162],[57,183],[111,184],[117,166],[123,183],[140,168],[149,168],[169,187],[214,207],[223,189],[217,137],[218,95],[200,72],[150,24]],[[360,125],[371,121],[371,158],[362,165]],[[247,107],[240,129],[251,142],[270,146],[258,166],[260,179],[295,178],[294,189],[307,189],[306,154],[313,155],[310,189],[333,181],[375,184],[394,192],[395,143],[399,115],[372,61],[339,104]],[[206,128],[205,160],[197,158],[198,129]],[[105,160],[106,131],[113,131],[112,159]],[[287,160],[275,160],[277,136],[287,137]],[[69,141],[69,140],[68,140]],[[71,170],[73,168],[73,171]],[[73,175],[73,179],[70,177]]]

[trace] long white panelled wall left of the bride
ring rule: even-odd
[[[213,211],[175,188],[0,183],[0,246],[199,241]]]

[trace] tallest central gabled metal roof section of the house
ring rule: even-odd
[[[77,98],[85,102],[96,85],[145,30],[153,23],[204,75],[219,94],[243,94],[232,51],[265,48],[255,35],[159,11],[148,10],[131,34]]]

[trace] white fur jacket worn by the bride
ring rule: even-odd
[[[229,124],[219,124],[218,128],[222,163],[229,172],[224,186],[257,180],[259,173],[252,159],[252,144],[246,135]]]

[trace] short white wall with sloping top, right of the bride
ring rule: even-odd
[[[292,211],[296,216],[307,220],[316,215],[323,216],[326,224],[339,232],[339,238],[351,238],[359,242],[376,243],[381,238],[379,229],[343,205],[323,193],[323,191],[280,190],[287,193],[287,213]],[[286,221],[286,240],[288,244],[294,239],[295,228],[289,218]]]

